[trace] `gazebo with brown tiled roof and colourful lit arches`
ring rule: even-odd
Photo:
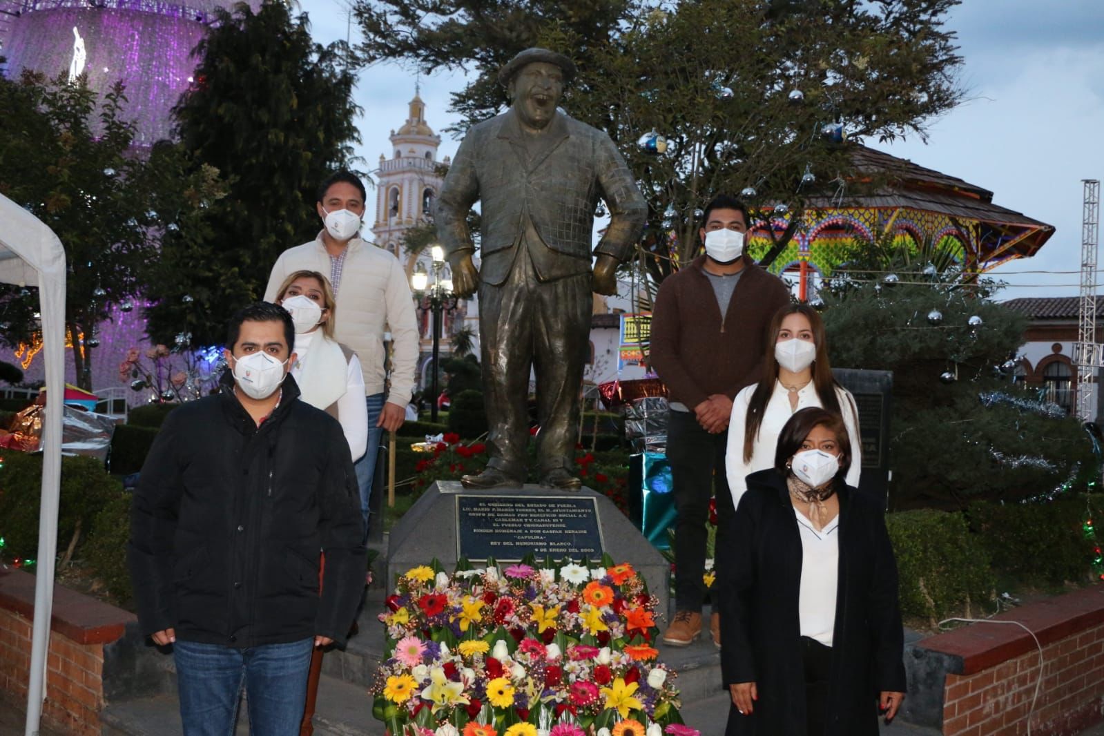
[[[802,299],[813,297],[820,279],[887,238],[914,250],[934,246],[953,254],[963,270],[981,274],[1034,255],[1054,232],[995,204],[989,190],[866,146],[849,146],[854,163],[849,179],[830,182],[800,213],[766,205],[769,230],[764,223],[751,233],[750,254],[796,282]],[[773,253],[794,217],[800,221],[792,237]]]

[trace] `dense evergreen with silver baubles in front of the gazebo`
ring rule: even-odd
[[[923,263],[854,268],[821,292],[832,365],[893,372],[893,508],[965,509],[1078,487],[1096,467],[1089,435],[1012,383],[1025,318],[991,300],[997,285],[963,284],[954,267],[925,274]]]

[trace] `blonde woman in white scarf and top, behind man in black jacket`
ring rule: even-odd
[[[311,270],[290,274],[276,292],[276,303],[295,322],[296,362],[291,376],[300,398],[341,423],[353,461],[368,445],[364,374],[357,353],[333,339],[336,300],[328,278]]]

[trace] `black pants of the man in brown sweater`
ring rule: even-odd
[[[671,463],[675,483],[675,509],[679,519],[675,526],[675,607],[700,611],[705,599],[705,542],[709,521],[709,499],[716,492],[716,550],[714,572],[724,557],[724,540],[720,530],[735,514],[728,477],[724,474],[724,451],[728,430],[719,435],[705,431],[693,412],[670,412],[667,424],[667,459]],[[715,609],[714,609],[715,610]]]

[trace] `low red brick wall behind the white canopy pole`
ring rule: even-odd
[[[20,704],[26,702],[33,617],[34,576],[22,570],[0,573],[0,690]],[[132,614],[54,587],[44,724],[73,734],[100,733],[104,644],[119,639],[132,620]]]

